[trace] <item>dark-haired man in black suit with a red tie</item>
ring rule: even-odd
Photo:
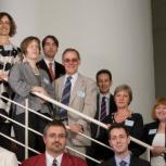
[[[46,71],[50,81],[65,74],[64,66],[55,61],[55,54],[59,49],[59,40],[54,36],[47,36],[42,40],[43,59],[37,63],[37,66]]]

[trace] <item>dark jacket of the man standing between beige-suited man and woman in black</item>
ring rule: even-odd
[[[111,116],[111,114],[116,111],[114,97],[112,94],[110,94],[110,107],[108,108],[110,110],[108,110],[108,115],[107,116]],[[97,112],[95,112],[94,119],[99,118],[99,110],[100,110],[100,94],[97,95]],[[98,125],[91,123],[91,137],[92,138],[95,138],[97,131],[98,131]]]

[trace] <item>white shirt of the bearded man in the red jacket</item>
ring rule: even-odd
[[[58,166],[61,166],[62,157],[63,157],[63,154],[59,155],[59,156],[55,158],[55,159],[56,159]],[[52,157],[52,156],[46,151],[47,166],[52,166],[53,159],[54,159],[54,157]]]

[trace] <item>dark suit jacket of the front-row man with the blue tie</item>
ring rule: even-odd
[[[116,166],[115,157],[99,164],[98,166]],[[131,155],[129,166],[151,166],[149,162]]]

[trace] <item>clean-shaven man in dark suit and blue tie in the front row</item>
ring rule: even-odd
[[[98,166],[150,166],[150,163],[130,153],[129,132],[122,124],[113,124],[108,129],[108,142],[115,155]]]

